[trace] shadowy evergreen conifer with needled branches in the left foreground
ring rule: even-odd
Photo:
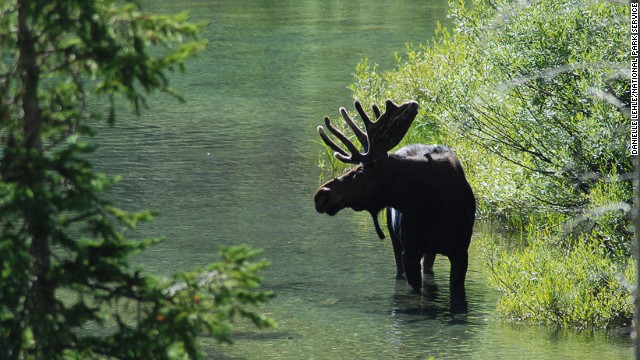
[[[105,200],[115,181],[83,140],[99,115],[89,97],[113,124],[120,100],[139,112],[154,90],[175,95],[167,74],[205,45],[200,26],[135,1],[0,0],[0,11],[0,358],[198,358],[197,337],[228,341],[235,315],[270,325],[253,306],[272,296],[258,289],[267,263],[247,247],[170,279],[132,268],[157,240],[125,231],[152,214]]]

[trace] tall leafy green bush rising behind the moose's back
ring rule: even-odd
[[[458,150],[488,202],[483,212],[575,211],[602,170],[631,169],[622,105],[607,96],[628,95],[618,76],[626,30],[614,26],[627,10],[608,1],[521,3],[453,5],[455,33],[439,26],[394,71],[361,63],[352,89],[367,104],[419,101],[407,142]],[[496,183],[496,168],[508,170],[505,181]],[[503,188],[508,195],[493,199]]]

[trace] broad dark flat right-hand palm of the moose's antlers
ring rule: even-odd
[[[398,145],[418,115],[418,103],[415,101],[398,106],[393,101],[387,100],[385,107],[385,112],[376,122],[370,123],[367,129],[370,153],[377,156],[386,154]]]

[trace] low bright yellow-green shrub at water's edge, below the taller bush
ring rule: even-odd
[[[557,224],[555,224],[557,226]],[[502,296],[498,311],[516,322],[577,328],[630,325],[635,261],[616,261],[597,236],[571,244],[554,224],[528,228],[526,246],[505,250],[485,237],[483,251],[490,284]]]

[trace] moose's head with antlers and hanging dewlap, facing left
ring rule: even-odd
[[[364,131],[349,117],[344,107],[340,108],[340,114],[362,145],[362,152],[331,124],[328,117],[324,118],[327,129],[344,144],[348,152],[331,140],[322,126],[318,126],[320,137],[334,151],[334,156],[356,166],[320,186],[314,198],[315,207],[319,213],[331,216],[347,207],[355,211],[367,210],[373,218],[378,236],[384,239],[377,217],[380,210],[388,205],[384,201],[384,194],[380,193],[387,171],[384,163],[389,156],[388,151],[398,145],[409,130],[418,114],[418,103],[410,101],[398,106],[387,100],[384,113],[374,105],[375,122],[371,121],[359,101],[355,102],[355,107],[364,122]]]

